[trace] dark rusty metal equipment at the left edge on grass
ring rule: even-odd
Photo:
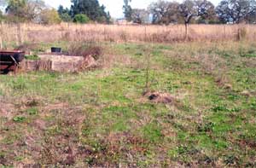
[[[24,59],[25,52],[20,50],[15,51],[1,51],[0,50],[0,71],[8,73],[16,71],[20,62]]]

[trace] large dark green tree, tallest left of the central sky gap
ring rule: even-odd
[[[98,0],[72,0],[70,14],[74,17],[76,14],[85,14],[90,20],[98,22],[107,22],[108,13],[105,12],[105,7]]]

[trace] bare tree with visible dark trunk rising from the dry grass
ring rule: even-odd
[[[209,17],[214,14],[214,5],[207,0],[185,0],[179,5],[179,12],[183,16],[185,38],[188,38],[188,26],[195,17]]]

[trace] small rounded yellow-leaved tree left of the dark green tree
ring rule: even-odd
[[[55,9],[44,9],[41,13],[41,22],[48,25],[60,24],[61,18]]]

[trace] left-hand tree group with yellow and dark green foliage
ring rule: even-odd
[[[58,24],[61,21],[88,23],[110,23],[110,14],[98,0],[72,0],[71,7],[59,6],[56,10],[44,3],[44,0],[0,0],[0,20],[8,22],[35,22]]]

